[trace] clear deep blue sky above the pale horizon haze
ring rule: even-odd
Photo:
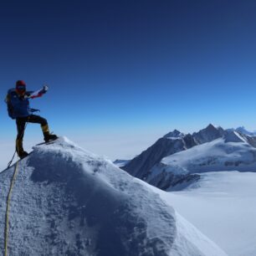
[[[256,128],[253,0],[2,1],[0,34],[2,98],[46,81],[32,105],[60,135]]]

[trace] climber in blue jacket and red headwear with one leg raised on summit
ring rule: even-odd
[[[26,84],[23,80],[18,80],[16,82],[16,88],[8,90],[8,95],[6,97],[6,103],[8,105],[8,115],[12,119],[16,119],[17,125],[17,139],[16,139],[16,151],[20,158],[28,156],[28,152],[23,150],[23,136],[26,127],[26,123],[36,123],[40,124],[43,134],[44,141],[54,141],[58,137],[54,134],[50,134],[49,126],[47,120],[39,115],[33,115],[33,112],[38,110],[31,109],[29,107],[29,100],[37,97],[41,97],[48,90],[48,86],[44,85],[41,90],[37,91],[27,91]]]

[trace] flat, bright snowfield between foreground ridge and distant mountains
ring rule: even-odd
[[[256,255],[256,173],[207,172],[181,192],[163,192],[175,207],[231,256]]]

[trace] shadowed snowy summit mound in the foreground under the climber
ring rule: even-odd
[[[13,171],[0,173],[1,230]],[[19,162],[9,220],[14,256],[226,255],[149,185],[65,138]]]

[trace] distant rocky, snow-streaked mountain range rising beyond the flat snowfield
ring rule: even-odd
[[[163,190],[186,187],[200,172],[256,171],[256,136],[244,127],[224,130],[207,125],[184,134],[174,130],[121,168]]]

